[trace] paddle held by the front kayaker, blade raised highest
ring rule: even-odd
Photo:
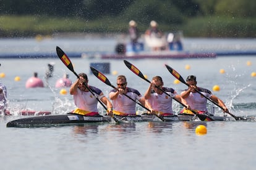
[[[66,67],[69,68],[69,70],[72,71],[74,73],[74,75],[77,76],[77,78],[79,78],[79,75],[77,75],[77,73],[75,73],[72,62],[70,61],[69,57],[67,57],[65,52],[62,51],[62,49],[58,46],[56,46],[56,52],[58,54],[59,59],[61,59],[61,61],[64,63],[64,65],[66,65]],[[101,100],[98,99],[98,97],[96,97],[96,95],[93,93],[93,91],[87,86],[87,84],[83,83],[83,85],[85,85],[85,87],[87,87],[87,89],[92,93],[92,95],[96,98],[96,100],[98,100],[98,102],[103,106],[103,108],[105,108],[105,110],[108,110],[106,108],[106,106],[101,102]],[[117,123],[119,122],[116,118],[114,118],[114,121],[116,121]]]

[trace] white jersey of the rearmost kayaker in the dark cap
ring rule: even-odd
[[[187,89],[185,91],[187,91]],[[208,89],[203,89],[201,87],[197,87],[197,91],[201,92],[208,98],[210,98],[212,95],[211,91],[209,91]],[[203,97],[203,95],[199,94],[198,92],[190,92],[189,96],[185,100],[187,101],[187,104],[192,110],[207,112],[207,99]]]

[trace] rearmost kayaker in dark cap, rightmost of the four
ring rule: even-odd
[[[224,112],[229,113],[228,108],[224,104],[224,102],[213,95],[210,90],[204,89],[202,87],[197,87],[197,78],[194,75],[190,75],[186,79],[187,84],[189,84],[189,88],[185,89],[181,92],[181,97],[186,100],[186,102],[190,105],[191,109],[197,111],[198,114],[205,114],[209,116],[213,116],[213,113],[209,113],[207,110],[207,98],[213,100],[213,102],[220,105]],[[203,97],[201,94],[205,95]],[[181,113],[192,114],[190,110],[182,110]]]

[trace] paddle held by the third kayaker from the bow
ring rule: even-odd
[[[148,83],[151,83],[147,78],[145,78],[145,76],[142,74],[142,72],[135,67],[134,65],[132,65],[131,63],[129,63],[127,60],[124,60],[124,63],[126,64],[126,66],[135,73],[135,75],[139,76],[142,79],[145,79],[145,81],[147,81]],[[165,91],[163,91],[163,89],[161,89],[160,87],[156,86],[157,89],[160,89],[160,91],[162,91],[164,94],[168,95],[169,97],[171,97],[171,95],[169,95],[168,93],[166,93]],[[175,99],[174,97],[171,97],[174,100],[176,100],[176,102],[180,103],[182,106],[186,107],[186,105],[184,105],[182,102],[179,102],[179,100]],[[198,118],[201,121],[213,121],[213,119],[207,115],[201,115],[198,114],[197,112],[195,112],[194,110],[191,110],[195,115],[198,116]]]

